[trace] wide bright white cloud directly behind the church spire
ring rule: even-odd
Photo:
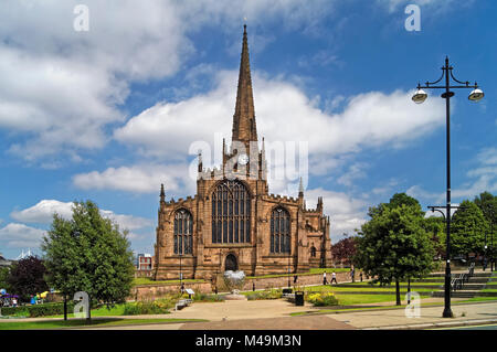
[[[236,72],[221,72],[211,92],[158,103],[116,129],[115,138],[138,147],[144,156],[160,158],[186,158],[194,141],[213,146],[214,137],[230,140],[236,81]],[[364,148],[401,148],[444,122],[441,102],[414,105],[412,92],[360,94],[348,99],[343,111],[327,114],[281,77],[254,74],[253,82],[258,134],[267,142],[307,141],[316,168],[310,173],[326,173],[326,166],[336,166],[334,158]]]

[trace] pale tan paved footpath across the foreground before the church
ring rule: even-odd
[[[443,299],[438,302],[443,303]],[[345,330],[345,329],[431,329],[497,322],[497,302],[452,306],[455,318],[441,318],[443,307],[421,307],[420,318],[405,317],[404,309],[357,311],[289,317],[290,312],[316,310],[295,307],[285,300],[225,301],[193,303],[167,316],[148,318],[202,318],[208,322],[108,327],[123,330]],[[463,317],[464,316],[464,317]],[[131,317],[130,317],[131,318]],[[141,318],[135,316],[133,318]]]

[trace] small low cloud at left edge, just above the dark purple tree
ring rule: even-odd
[[[24,224],[10,223],[0,228],[0,244],[6,247],[34,248],[41,244],[45,231],[27,226]]]

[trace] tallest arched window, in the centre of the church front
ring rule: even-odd
[[[212,192],[212,243],[251,242],[251,196],[240,181],[224,181]]]

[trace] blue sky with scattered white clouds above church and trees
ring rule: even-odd
[[[396,192],[444,203],[444,100],[410,97],[445,55],[485,92],[452,99],[453,201],[497,191],[495,1],[84,1],[81,32],[77,3],[0,10],[7,257],[36,250],[53,211],[87,199],[152,253],[160,183],[167,199],[193,195],[191,145],[231,139],[244,22],[260,138],[308,143],[307,205],[324,196],[332,242]],[[421,31],[404,28],[410,3]],[[269,191],[295,196],[295,182]]]

